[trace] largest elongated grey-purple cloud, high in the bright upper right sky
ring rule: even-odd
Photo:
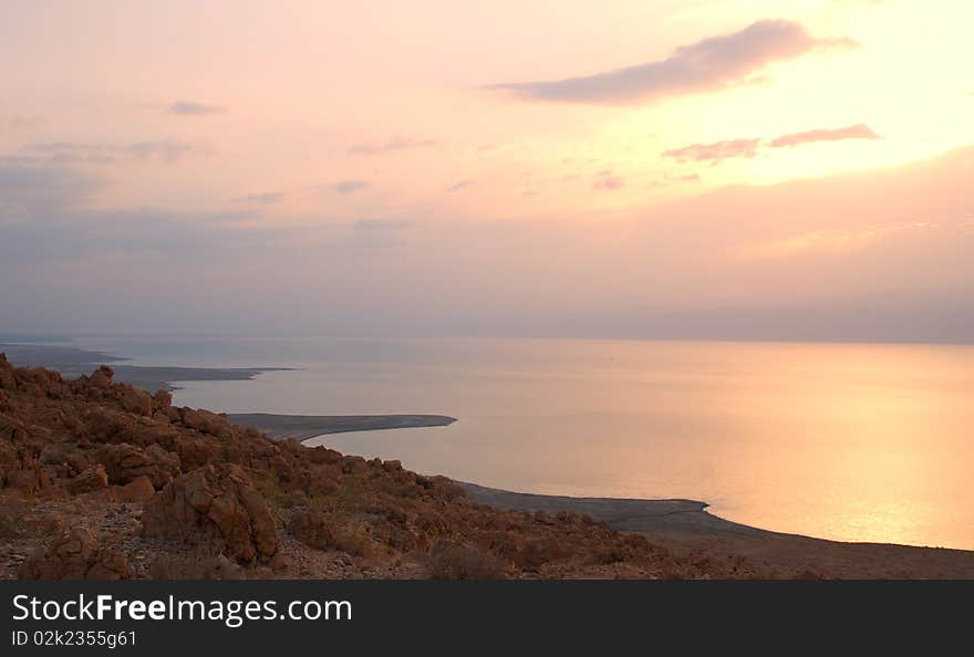
[[[505,83],[488,88],[522,98],[567,103],[629,104],[746,84],[767,65],[825,50],[849,50],[848,38],[816,39],[799,23],[763,20],[721,36],[677,48],[666,58],[636,66],[564,80]]]

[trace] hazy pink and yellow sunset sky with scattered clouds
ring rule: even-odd
[[[974,338],[974,7],[4,0],[0,332]]]

